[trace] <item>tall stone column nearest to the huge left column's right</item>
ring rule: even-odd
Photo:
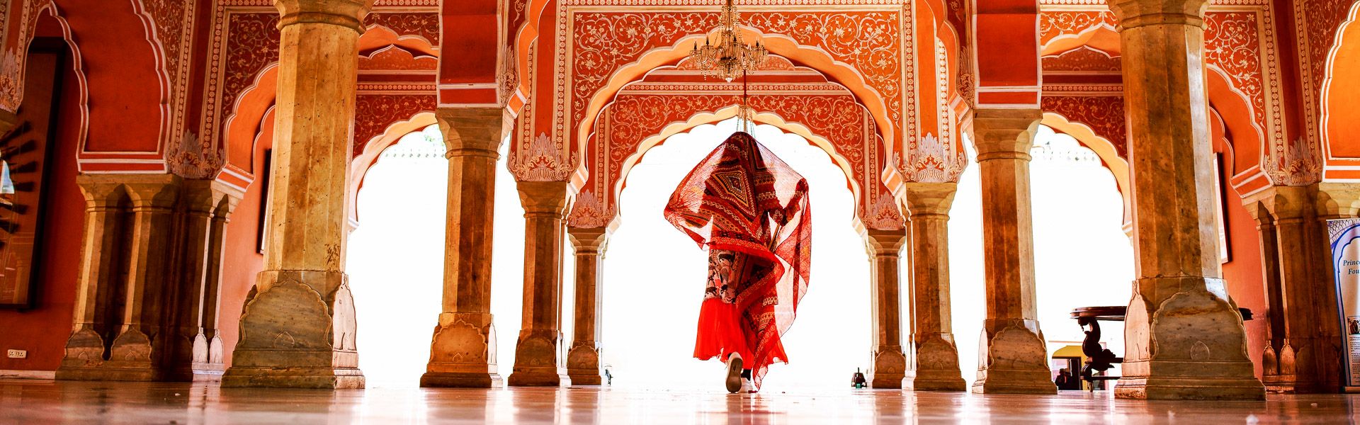
[[[422,387],[490,388],[496,371],[491,320],[491,236],[496,161],[505,135],[502,108],[443,108],[435,116],[449,153],[443,255],[443,312],[430,343]]]

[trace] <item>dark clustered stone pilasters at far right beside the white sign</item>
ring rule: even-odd
[[[1326,222],[1315,211],[1316,193],[1315,185],[1272,187],[1247,200],[1261,232],[1270,302],[1270,345],[1262,353],[1262,381],[1272,392],[1341,390],[1341,317],[1337,309],[1316,308],[1337,305],[1336,289],[1316,285],[1333,279],[1327,271],[1331,259]]]

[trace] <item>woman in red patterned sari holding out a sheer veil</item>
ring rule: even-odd
[[[744,132],[713,150],[670,195],[666,221],[709,251],[694,357],[728,364],[729,392],[755,392],[808,292],[808,183]]]

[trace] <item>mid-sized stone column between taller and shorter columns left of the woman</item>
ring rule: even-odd
[[[562,237],[566,181],[520,181],[524,204],[524,328],[510,385],[570,385],[562,341]]]

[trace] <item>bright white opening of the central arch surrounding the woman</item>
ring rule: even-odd
[[[692,357],[707,256],[665,221],[662,208],[680,180],[738,123],[670,136],[628,172],[620,225],[601,271],[602,362],[615,385],[722,391],[722,365]],[[813,217],[812,281],[783,341],[790,362],[770,368],[764,391],[849,387],[854,369],[869,364],[872,323],[869,257],[853,227],[846,174],[801,136],[772,125],[758,125],[753,136],[808,180]]]

